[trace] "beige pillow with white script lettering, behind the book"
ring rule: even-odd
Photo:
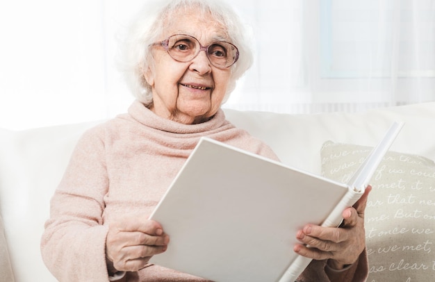
[[[322,174],[346,182],[371,149],[325,142]],[[433,281],[435,163],[388,151],[370,185],[365,213],[368,281]]]

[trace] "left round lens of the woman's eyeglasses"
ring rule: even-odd
[[[199,42],[188,35],[172,35],[167,42],[167,52],[180,62],[192,60],[199,49]]]

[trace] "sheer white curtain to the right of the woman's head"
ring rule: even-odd
[[[435,100],[434,0],[257,0],[245,13],[256,65],[230,108],[315,113]]]

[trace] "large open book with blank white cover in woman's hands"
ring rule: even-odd
[[[403,124],[394,123],[350,183],[202,138],[151,215],[170,236],[151,263],[212,281],[295,281],[305,224],[338,226]]]

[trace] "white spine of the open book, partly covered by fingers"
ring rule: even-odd
[[[323,227],[336,227],[339,226],[343,221],[343,217],[341,213],[343,210],[349,206],[353,206],[359,198],[361,198],[364,191],[355,192],[354,190],[349,189],[349,191],[345,194],[343,199],[338,203],[338,205],[332,210],[327,219],[322,223]],[[304,256],[297,256],[293,263],[288,267],[286,272],[281,276],[279,282],[294,282],[297,277],[304,271],[304,269],[311,263],[311,258],[306,258]]]

